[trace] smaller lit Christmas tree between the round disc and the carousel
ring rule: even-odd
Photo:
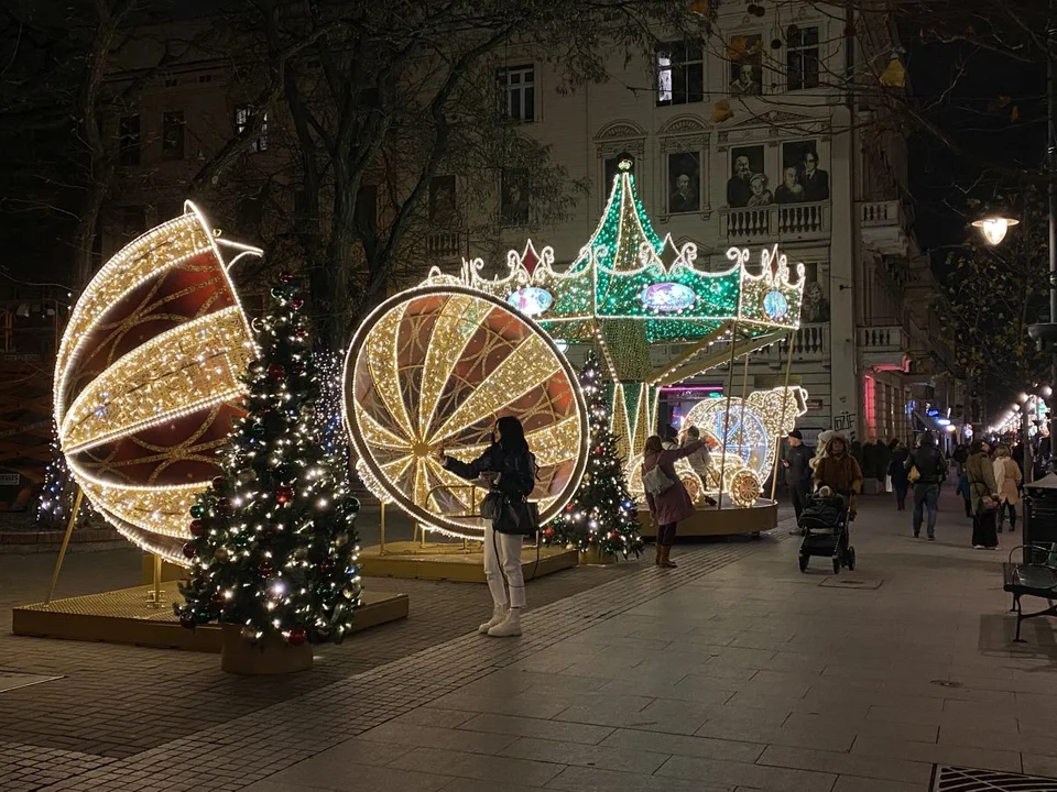
[[[617,450],[619,437],[609,429],[610,411],[593,352],[580,371],[580,388],[591,426],[587,471],[565,512],[544,529],[544,541],[575,547],[580,552],[597,550],[602,556],[638,557],[642,550],[638,513]]]

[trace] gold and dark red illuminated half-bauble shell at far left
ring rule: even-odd
[[[218,475],[255,355],[227,270],[255,248],[219,240],[198,209],[122,248],[70,314],[55,424],[72,475],[124,537],[186,565],[187,513]]]

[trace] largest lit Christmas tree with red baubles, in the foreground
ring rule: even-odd
[[[272,296],[246,375],[248,415],[232,428],[224,475],[192,508],[190,580],[174,608],[186,627],[242,625],[247,640],[337,642],[360,598],[359,503],[347,460],[327,451],[334,399],[320,380],[334,369],[314,365],[293,277],[281,275]]]

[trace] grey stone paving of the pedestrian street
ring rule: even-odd
[[[944,501],[926,543],[887,498],[864,498],[859,569],[836,579],[821,559],[800,574],[782,531],[680,548],[677,570],[555,575],[530,586],[519,639],[469,631],[483,587],[429,584],[456,632],[403,654],[394,640],[391,662],[362,671],[346,647],[259,681],[210,656],[0,639],[0,670],[68,674],[87,698],[68,696],[67,717],[123,739],[43,739],[63,734],[48,710],[63,682],[0,693],[0,790],[909,792],[935,765],[1057,777],[1053,625],[1010,642],[1005,553],[969,549],[959,513]],[[563,596],[545,602],[547,581]]]

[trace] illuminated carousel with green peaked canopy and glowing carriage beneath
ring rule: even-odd
[[[622,157],[601,222],[568,267],[558,271],[554,251],[537,252],[530,242],[523,253],[508,254],[504,275],[483,276],[477,260],[464,263],[458,276],[434,268],[426,284],[491,295],[555,339],[598,346],[615,383],[613,430],[640,494],[636,460],[656,420],[660,388],[728,365],[726,398],[702,403],[686,421],[698,424],[715,447],[716,473],[701,482],[688,466],[680,471],[702,495],[718,494],[722,502],[726,492],[734,505],[750,506],[774,465],[778,440],[806,410],[806,392],[783,387],[749,395],[743,386],[734,397],[734,361],[786,339],[792,360],[804,267],[791,266],[775,245],[761,250],[758,262],[748,249],[731,248],[729,266],[699,268],[695,244],[676,245],[653,230],[631,168],[632,158]],[[675,350],[663,365],[651,354],[657,345]]]

